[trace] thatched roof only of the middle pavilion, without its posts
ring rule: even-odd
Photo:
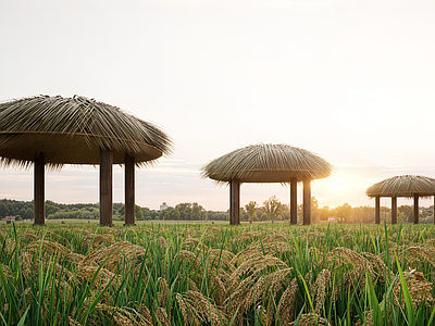
[[[291,178],[301,181],[321,179],[331,175],[333,167],[314,153],[285,143],[259,143],[237,149],[207,165],[202,177],[209,177],[217,184],[232,179],[240,183],[282,183]]]

